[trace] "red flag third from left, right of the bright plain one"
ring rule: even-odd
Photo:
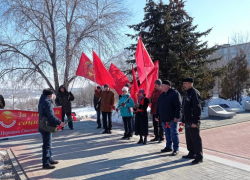
[[[121,95],[122,88],[125,86],[126,83],[129,83],[127,76],[120,69],[118,69],[113,63],[111,63],[109,67],[109,73],[115,81],[116,92],[119,95]]]

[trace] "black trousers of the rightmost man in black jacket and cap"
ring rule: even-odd
[[[202,153],[202,140],[200,137],[199,128],[186,128],[185,129],[187,149],[190,155],[196,155],[196,159],[203,159]]]

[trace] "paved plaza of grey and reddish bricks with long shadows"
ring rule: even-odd
[[[223,125],[226,120],[217,122],[221,127],[210,124],[211,129],[201,131],[204,162],[199,165],[191,165],[191,160],[181,158],[187,153],[183,133],[180,153],[173,157],[171,153],[160,153],[165,143],[138,145],[136,136],[130,141],[121,140],[123,129],[119,124],[114,125],[111,135],[103,135],[93,119],[74,123],[74,131],[66,127],[53,135],[53,158],[60,162],[53,170],[42,169],[40,134],[0,141],[0,147],[11,148],[31,180],[250,180],[250,121],[226,126]]]

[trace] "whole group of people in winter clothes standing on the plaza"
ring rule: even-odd
[[[131,139],[133,133],[139,135],[138,144],[146,145],[148,136],[148,113],[147,109],[151,103],[151,114],[153,116],[153,126],[155,137],[151,141],[163,142],[163,132],[165,132],[166,147],[161,152],[172,152],[176,156],[179,152],[178,123],[185,126],[185,135],[187,149],[189,153],[183,158],[194,159],[192,164],[199,164],[203,161],[202,140],[200,137],[200,116],[201,116],[201,98],[200,93],[193,87],[193,78],[183,80],[185,95],[181,98],[180,93],[171,87],[169,80],[155,81],[155,90],[151,97],[147,98],[145,91],[140,89],[137,101],[130,97],[130,84],[122,88],[119,103],[115,107],[115,94],[110,90],[108,84],[104,89],[98,86],[95,88],[94,106],[97,111],[97,128],[101,128],[102,114],[103,134],[111,134],[112,130],[112,112],[120,111],[124,123],[124,135],[122,139]],[[64,116],[71,119],[71,101],[74,96],[68,92],[64,86],[60,86],[56,105],[62,106],[62,121],[60,121],[53,111],[53,89],[44,89],[40,97],[38,112],[39,124],[42,117],[47,117],[49,123],[65,126]],[[1,108],[1,107],[0,107]],[[135,121],[134,121],[135,119]],[[69,122],[69,128],[73,130],[72,121]],[[43,168],[53,169],[58,161],[52,160],[52,133],[39,128],[43,140]]]

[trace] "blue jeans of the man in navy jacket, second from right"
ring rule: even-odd
[[[166,128],[166,122],[162,122],[162,127],[165,132],[166,137],[166,147],[172,149],[172,144],[174,151],[179,151],[179,135],[177,132],[177,122],[169,123],[171,128]]]

